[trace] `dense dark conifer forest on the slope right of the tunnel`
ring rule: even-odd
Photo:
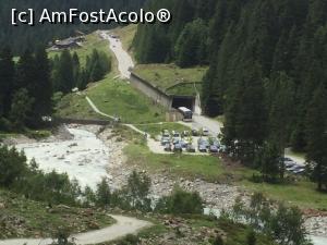
[[[173,21],[138,27],[138,62],[209,63],[203,109],[207,115],[226,115],[230,152],[253,166],[262,151],[276,151],[275,169],[282,177],[284,167],[277,159],[283,149],[306,150],[314,179],[327,188],[327,118],[322,109],[327,101],[326,1],[147,3],[154,10],[162,7],[172,11]]]

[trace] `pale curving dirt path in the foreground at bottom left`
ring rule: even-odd
[[[138,220],[135,218],[129,218],[124,216],[111,217],[117,220],[116,224],[101,230],[72,235],[71,237],[75,240],[75,243],[77,245],[99,244],[114,241],[128,234],[135,234],[140,230],[149,228],[152,225],[150,222]],[[50,245],[51,243],[51,238],[20,238],[0,241],[0,245]]]

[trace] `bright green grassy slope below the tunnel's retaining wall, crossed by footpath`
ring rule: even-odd
[[[165,121],[165,110],[159,108],[124,81],[108,75],[82,95],[68,95],[57,107],[57,114],[68,118],[105,119],[95,113],[87,95],[98,109],[110,115],[119,115],[125,123],[152,123]]]

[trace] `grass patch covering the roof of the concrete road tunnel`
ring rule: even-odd
[[[174,64],[138,64],[134,69],[135,74],[153,83],[164,91],[179,83],[202,82],[206,71],[207,68],[180,69]],[[190,86],[185,86],[190,90]],[[179,90],[183,91],[183,88]]]

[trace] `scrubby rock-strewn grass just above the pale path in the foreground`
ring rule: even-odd
[[[25,199],[19,195],[0,189],[0,218],[5,225],[0,225],[0,238],[9,237],[49,237],[58,228],[66,228],[71,233],[94,230],[114,223],[104,212],[81,208],[53,207],[51,210],[44,203]],[[88,215],[87,215],[88,213]]]

